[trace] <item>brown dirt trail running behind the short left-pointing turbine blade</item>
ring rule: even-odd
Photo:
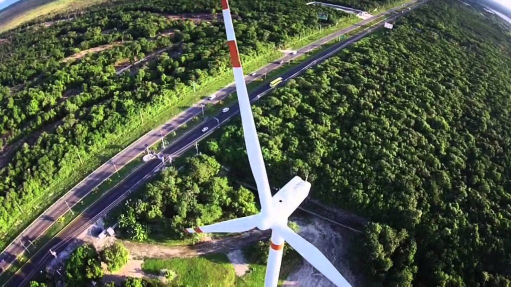
[[[229,252],[270,237],[269,231],[251,230],[243,234],[201,242],[193,246],[143,244],[123,241],[133,258],[196,257],[206,253]]]

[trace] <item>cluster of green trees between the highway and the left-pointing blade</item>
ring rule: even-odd
[[[183,230],[258,212],[250,190],[229,182],[220,163],[199,155],[185,158],[146,184],[119,214],[122,236],[179,239]]]

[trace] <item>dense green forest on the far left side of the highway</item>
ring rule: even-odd
[[[236,2],[242,57],[258,64],[317,33],[311,19],[325,9]],[[353,17],[329,15],[323,26]],[[224,43],[214,0],[117,2],[0,34],[0,248],[91,171],[90,160],[127,145],[142,113],[157,116],[193,97],[192,86],[230,80]]]

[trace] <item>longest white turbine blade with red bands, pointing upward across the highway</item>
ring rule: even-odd
[[[257,131],[255,130],[254,118],[252,109],[250,108],[250,100],[248,99],[247,86],[245,84],[245,77],[243,75],[243,68],[238,52],[238,44],[236,43],[233,19],[230,15],[229,3],[227,0],[222,0],[222,9],[227,43],[229,45],[230,62],[233,65],[236,92],[238,93],[238,103],[240,105],[241,123],[243,126],[248,161],[250,162],[250,168],[258,189],[261,213],[269,214],[271,207],[270,185],[268,183],[268,176],[266,175],[261,145],[259,143]]]

